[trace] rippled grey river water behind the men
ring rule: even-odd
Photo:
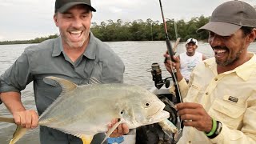
[[[122,58],[126,66],[124,81],[150,89],[154,86],[150,68],[151,64],[158,62],[162,68],[162,78],[169,74],[163,65],[162,55],[166,51],[166,42],[106,42]],[[0,45],[0,74],[2,74],[22,54],[24,48],[30,45]],[[178,45],[177,54],[185,51],[185,43]],[[207,58],[213,56],[213,50],[205,42],[199,42],[198,51],[205,54]],[[256,52],[256,43],[251,44],[249,51]],[[34,96],[32,84],[22,91],[22,102],[27,109],[34,109]],[[4,105],[0,105],[0,116],[11,116]],[[0,122],[0,144],[10,142],[14,133],[14,124]],[[18,144],[37,144],[38,129],[30,130],[18,141]]]

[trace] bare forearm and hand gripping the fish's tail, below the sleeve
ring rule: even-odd
[[[22,105],[21,94],[18,92],[4,92],[0,94],[0,99],[7,109],[14,116],[17,125],[33,129],[38,126],[38,114],[35,110],[26,110]]]

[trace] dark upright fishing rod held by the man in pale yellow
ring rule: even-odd
[[[172,49],[172,46],[170,44],[170,39],[168,37],[168,31],[167,31],[167,26],[166,26],[166,20],[165,20],[165,17],[163,15],[163,10],[162,10],[162,2],[161,0],[159,0],[159,3],[160,3],[160,8],[161,8],[161,12],[162,12],[162,21],[163,21],[163,25],[164,25],[164,30],[165,30],[165,33],[166,33],[166,46],[167,46],[167,50],[168,50],[168,53],[170,55],[170,59],[172,62],[175,62],[174,61],[174,50]],[[177,102],[180,103],[182,102],[182,97],[181,97],[181,93],[180,93],[180,90],[179,90],[179,87],[178,87],[178,80],[177,80],[177,70],[176,69],[173,69],[173,66],[170,64],[170,70],[171,70],[171,75],[172,75],[172,79],[173,79],[173,82],[174,82],[174,87],[175,87],[175,96],[177,98]],[[180,124],[180,132],[182,131],[182,128],[183,128],[183,122],[180,118],[180,116],[178,117],[181,124]]]

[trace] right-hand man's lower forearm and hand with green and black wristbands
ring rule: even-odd
[[[255,102],[253,102],[255,103]],[[213,128],[213,120],[202,105],[193,102],[182,102],[177,105],[178,114],[181,116],[184,126],[193,126],[195,129],[210,132]],[[210,138],[213,143],[255,143],[256,142],[256,126],[255,126],[256,106],[247,108],[243,118],[243,126],[241,130],[230,129],[225,123],[222,123],[220,133]]]

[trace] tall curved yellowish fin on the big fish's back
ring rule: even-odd
[[[43,81],[51,86],[53,86],[53,85],[56,86],[59,84],[60,86],[62,86],[62,93],[66,93],[66,91],[72,91],[77,88],[76,84],[74,84],[73,82],[70,82],[64,78],[50,76],[50,77],[43,78]],[[58,84],[57,83],[53,84],[53,81],[58,82]]]

